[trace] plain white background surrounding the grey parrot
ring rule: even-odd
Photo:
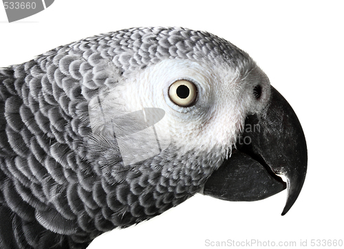
[[[342,3],[56,0],[16,23],[7,22],[0,6],[0,67],[127,27],[201,29],[248,51],[303,126],[308,175],[299,199],[284,217],[280,213],[286,191],[259,202],[196,195],[149,222],[98,237],[89,249],[209,248],[206,239],[296,241],[298,246],[307,240],[310,247],[311,239],[344,239]]]

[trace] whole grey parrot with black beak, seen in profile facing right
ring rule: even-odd
[[[0,69],[0,82],[0,248],[86,248],[195,193],[260,200],[288,187],[284,214],[301,191],[296,115],[213,34],[102,34]]]

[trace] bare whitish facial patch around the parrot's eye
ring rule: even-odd
[[[126,165],[160,153],[171,141],[185,151],[217,147],[226,154],[250,108],[240,77],[228,65],[163,60],[89,102],[92,132],[116,139]],[[192,106],[171,100],[169,87],[178,80],[196,86]]]

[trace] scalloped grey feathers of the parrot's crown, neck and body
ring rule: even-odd
[[[172,142],[123,165],[116,142],[92,136],[89,101],[166,59],[224,64],[241,75],[256,67],[222,38],[158,27],[94,36],[0,70],[0,215],[9,229],[1,248],[85,248],[200,191],[223,148],[180,154]]]

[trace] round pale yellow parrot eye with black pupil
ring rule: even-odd
[[[169,88],[171,101],[178,106],[191,106],[196,102],[197,88],[195,84],[187,80],[178,80]]]

